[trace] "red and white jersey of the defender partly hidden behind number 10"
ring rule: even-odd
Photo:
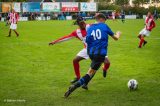
[[[84,44],[84,47],[86,48],[87,43],[86,43],[86,35],[87,35],[87,29],[89,28],[89,24],[86,25],[86,29],[81,30],[81,29],[76,29],[75,31],[73,31],[71,34],[67,35],[67,36],[63,36],[57,40],[55,40],[53,43],[59,43],[59,42],[63,42],[66,40],[69,40],[71,38],[78,38],[79,40],[81,40]]]

